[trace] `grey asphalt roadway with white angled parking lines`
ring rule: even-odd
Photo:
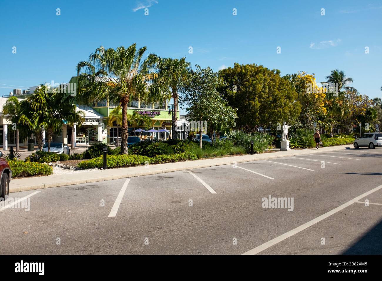
[[[381,160],[346,149],[11,193],[30,210],[0,206],[0,250],[382,254]]]

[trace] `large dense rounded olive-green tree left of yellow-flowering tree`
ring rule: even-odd
[[[228,84],[219,92],[228,105],[237,108],[236,127],[254,132],[278,122],[294,122],[301,105],[290,81],[280,77],[279,70],[269,70],[262,65],[240,65],[219,71]]]

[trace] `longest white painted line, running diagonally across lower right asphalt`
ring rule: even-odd
[[[243,255],[255,255],[257,253],[260,253],[266,249],[268,249],[269,247],[272,247],[273,245],[297,234],[298,232],[300,231],[303,231],[304,229],[307,229],[308,227],[322,221],[323,219],[326,219],[328,218],[329,216],[331,216],[332,214],[335,214],[339,211],[341,211],[342,209],[345,209],[346,207],[350,206],[351,204],[353,204],[354,202],[357,202],[358,200],[366,197],[367,195],[373,193],[373,192],[376,192],[378,190],[380,190],[382,188],[382,185],[376,187],[376,188],[373,188],[372,190],[369,190],[368,192],[365,192],[361,195],[359,195],[358,197],[354,198],[354,199],[351,199],[350,201],[346,202],[345,204],[342,204],[341,206],[338,206],[337,208],[315,218],[315,219],[312,219],[311,221],[308,221],[308,223],[304,223],[303,225],[301,226],[298,226],[296,227],[295,229],[292,229],[291,231],[288,231],[268,242],[265,242],[264,244],[261,244],[260,246],[257,246],[256,248],[252,249],[252,250],[249,250],[248,252],[245,252],[243,253]]]

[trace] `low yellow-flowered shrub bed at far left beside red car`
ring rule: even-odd
[[[12,170],[12,177],[31,177],[35,175],[51,175],[52,167],[48,164],[24,161],[8,161]]]

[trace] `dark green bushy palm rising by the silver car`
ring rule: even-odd
[[[41,85],[31,98],[34,123],[40,123],[47,132],[48,152],[52,136],[62,130],[63,121],[69,124],[81,124],[84,121],[84,112],[76,112],[73,97],[62,93],[59,87],[52,89]]]

